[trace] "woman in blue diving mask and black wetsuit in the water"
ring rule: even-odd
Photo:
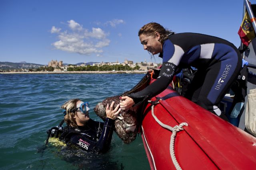
[[[60,140],[67,145],[76,146],[88,152],[106,152],[110,148],[114,120],[121,111],[119,104],[113,109],[114,102],[106,107],[105,122],[94,121],[89,117],[89,103],[79,99],[68,100],[64,109],[64,127]],[[119,109],[118,109],[119,108]]]

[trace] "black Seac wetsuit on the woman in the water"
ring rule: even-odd
[[[105,123],[89,119],[84,126],[65,127],[60,140],[68,146],[76,146],[88,152],[106,152],[110,148],[114,120],[106,118]]]

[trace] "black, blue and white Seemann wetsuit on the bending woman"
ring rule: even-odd
[[[177,68],[198,69],[186,98],[220,115],[218,104],[241,70],[242,58],[230,42],[199,33],[178,33],[163,44],[159,77],[144,90],[131,94],[135,103],[156,96],[172,81]]]

